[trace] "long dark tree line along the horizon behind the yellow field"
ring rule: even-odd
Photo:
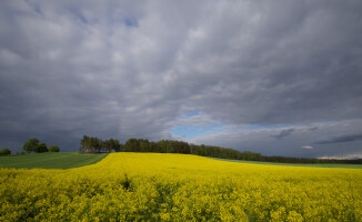
[[[267,157],[261,153],[250,151],[238,151],[230,148],[214,145],[189,144],[183,141],[161,140],[149,141],[147,139],[129,139],[124,144],[119,140],[101,140],[93,137],[83,135],[80,141],[80,152],[101,153],[101,152],[155,152],[155,153],[183,153],[195,154],[209,158],[220,158],[230,160],[279,162],[279,163],[355,163],[362,164],[359,160],[336,160],[336,159],[310,159],[310,158],[288,158],[288,157]]]

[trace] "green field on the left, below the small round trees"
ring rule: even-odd
[[[107,157],[102,154],[80,154],[77,152],[31,153],[26,155],[0,157],[0,168],[42,168],[70,169],[99,162]]]

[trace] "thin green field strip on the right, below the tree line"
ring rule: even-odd
[[[260,162],[260,161],[247,161],[247,160],[229,160],[220,158],[211,158],[214,160],[239,162],[239,163],[253,163],[253,164],[265,164],[265,165],[285,165],[285,167],[310,167],[310,168],[351,168],[362,169],[362,164],[345,164],[345,163],[275,163],[275,162]]]

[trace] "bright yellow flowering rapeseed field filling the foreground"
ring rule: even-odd
[[[362,170],[111,153],[0,169],[0,221],[362,221]]]

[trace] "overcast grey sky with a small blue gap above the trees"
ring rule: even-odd
[[[362,1],[0,2],[0,149],[362,158]]]

